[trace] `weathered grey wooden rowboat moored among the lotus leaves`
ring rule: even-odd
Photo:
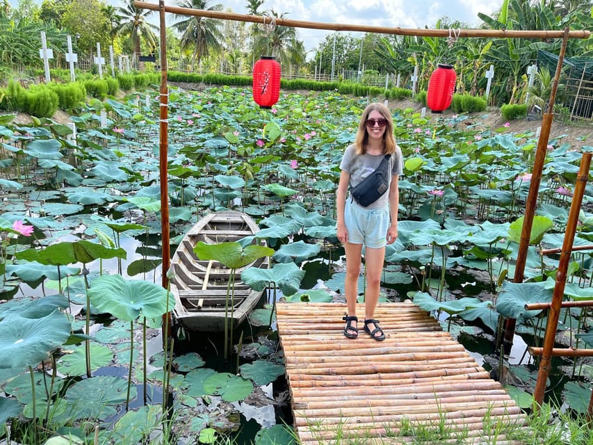
[[[173,323],[193,332],[223,332],[225,318],[234,325],[241,323],[261,301],[263,291],[254,291],[241,281],[248,267],[268,267],[268,257],[257,259],[235,270],[234,296],[227,305],[227,286],[231,269],[218,261],[202,261],[193,251],[199,242],[218,244],[238,241],[259,232],[259,227],[245,213],[219,211],[199,220],[184,236],[171,264],[174,277],[170,290],[175,297]],[[254,241],[254,243],[257,241]],[[263,244],[263,241],[259,241]]]

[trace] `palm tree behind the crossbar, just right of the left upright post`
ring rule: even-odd
[[[208,6],[208,0],[180,0],[177,2],[177,6],[209,11],[222,10],[222,4]],[[209,51],[222,49],[224,36],[220,31],[222,26],[220,20],[197,16],[188,17],[182,14],[174,14],[173,17],[179,19],[173,26],[181,33],[179,41],[181,49],[192,51],[192,68],[196,62],[200,62],[202,57],[208,56]]]

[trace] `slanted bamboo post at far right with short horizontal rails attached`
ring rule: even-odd
[[[562,298],[564,298],[564,286],[566,285],[566,274],[571,257],[571,248],[574,243],[574,234],[578,223],[578,213],[580,211],[580,204],[583,202],[583,195],[585,195],[587,179],[589,178],[591,156],[592,154],[590,152],[583,153],[583,159],[580,160],[580,168],[578,170],[578,176],[576,177],[576,185],[574,187],[569,218],[564,232],[564,243],[562,243],[562,253],[560,254],[560,261],[558,262],[558,273],[556,273],[552,305],[548,314],[548,322],[546,323],[542,358],[539,361],[537,382],[535,382],[535,390],[533,391],[533,398],[537,405],[542,405],[542,402],[544,401],[546,380],[548,379],[548,374],[551,369],[551,357],[556,337],[556,327],[558,327]]]

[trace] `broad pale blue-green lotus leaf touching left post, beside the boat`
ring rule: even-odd
[[[93,280],[88,290],[92,305],[123,321],[139,316],[157,318],[170,312],[175,304],[162,286],[144,280],[124,280],[122,275],[103,275]],[[168,302],[168,305],[167,305]]]

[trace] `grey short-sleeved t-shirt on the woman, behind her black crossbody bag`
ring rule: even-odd
[[[340,170],[350,174],[350,188],[357,186],[360,182],[374,172],[383,158],[384,154],[356,154],[356,146],[354,144],[348,145],[342,161],[340,163]],[[403,173],[402,167],[402,151],[400,147],[396,146],[396,152],[391,156],[391,175],[401,175]],[[391,184],[391,177],[389,178]],[[389,203],[389,192],[384,193],[378,200],[369,204],[367,209],[380,209],[387,206]]]

